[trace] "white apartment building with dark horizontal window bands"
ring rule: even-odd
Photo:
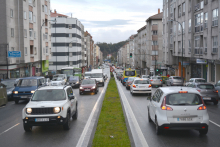
[[[63,67],[82,68],[84,62],[84,26],[77,18],[51,12],[52,57],[49,69],[59,71]]]

